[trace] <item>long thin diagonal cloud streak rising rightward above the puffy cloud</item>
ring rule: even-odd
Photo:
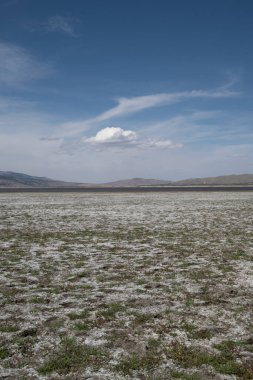
[[[161,93],[132,98],[118,98],[117,105],[109,110],[97,115],[94,118],[79,122],[69,122],[62,126],[65,135],[79,134],[101,122],[114,118],[124,117],[133,113],[141,112],[149,108],[169,105],[175,102],[185,101],[193,98],[230,98],[238,95],[238,92],[226,89],[212,91],[183,91],[176,93]]]

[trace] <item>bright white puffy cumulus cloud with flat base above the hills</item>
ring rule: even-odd
[[[99,148],[180,148],[181,144],[174,144],[170,140],[141,139],[138,134],[131,130],[119,127],[106,127],[97,132],[95,136],[83,137],[82,144],[89,144]]]

